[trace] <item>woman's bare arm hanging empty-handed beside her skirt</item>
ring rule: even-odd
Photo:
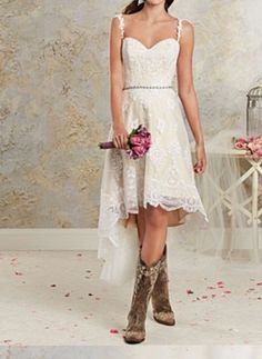
[[[194,170],[196,173],[202,173],[205,170],[206,159],[199,104],[193,84],[193,26],[189,21],[183,20],[183,31],[180,39],[180,53],[178,58],[178,93],[195,140],[198,161],[194,164]]]

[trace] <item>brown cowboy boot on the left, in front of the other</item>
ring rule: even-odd
[[[160,265],[161,259],[151,266],[147,266],[141,258],[141,251],[139,251],[131,309],[123,336],[124,341],[128,343],[139,343],[145,339],[147,310]]]

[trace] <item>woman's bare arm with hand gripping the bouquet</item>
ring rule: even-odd
[[[110,104],[114,146],[127,148],[128,132],[122,118],[123,66],[121,59],[121,34],[119,19],[112,18],[110,29]]]

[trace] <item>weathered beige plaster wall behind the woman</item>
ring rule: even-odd
[[[0,0],[0,227],[97,227],[110,126],[109,24],[127,1]],[[195,26],[205,136],[243,126],[262,2],[179,0]]]

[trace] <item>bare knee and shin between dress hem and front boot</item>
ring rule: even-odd
[[[145,231],[141,258],[148,265],[158,261],[164,249],[168,232],[168,212],[160,206],[144,209]]]

